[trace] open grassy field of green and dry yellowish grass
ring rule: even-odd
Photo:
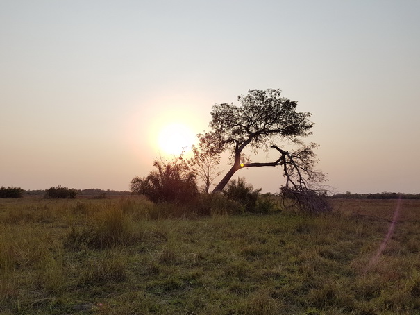
[[[0,314],[420,314],[420,201],[380,255],[398,201],[331,202],[162,219],[142,198],[0,200]]]

